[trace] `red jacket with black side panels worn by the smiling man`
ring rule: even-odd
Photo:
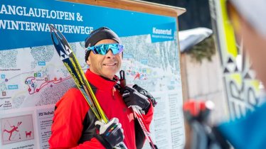
[[[132,109],[127,108],[119,91],[115,89],[117,81],[104,79],[87,70],[87,80],[94,89],[95,96],[107,118],[118,118],[124,129],[124,143],[129,149],[136,148],[136,136],[139,130],[135,130],[134,115]],[[84,121],[90,107],[85,101],[80,90],[69,89],[68,92],[55,104],[52,135],[49,139],[50,148],[105,148],[96,138],[80,142],[84,133]],[[144,116],[147,126],[150,125],[153,116],[153,107]],[[92,122],[94,126],[94,121]],[[138,129],[138,128],[137,128]],[[137,131],[135,133],[135,131]],[[138,138],[137,138],[138,139]],[[142,144],[143,145],[143,144]],[[142,146],[141,145],[141,146]],[[139,145],[138,145],[139,146]]]

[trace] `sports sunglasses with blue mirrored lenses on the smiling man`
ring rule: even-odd
[[[117,55],[119,53],[122,53],[122,51],[124,50],[124,45],[121,45],[119,43],[95,45],[86,48],[86,53],[90,50],[92,50],[94,54],[99,55],[106,55],[109,50],[112,50],[112,54]]]

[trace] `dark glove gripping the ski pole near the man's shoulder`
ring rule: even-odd
[[[124,87],[121,89],[121,94],[124,100],[124,103],[127,106],[135,106],[137,109],[147,113],[149,111],[150,102],[147,96],[140,94],[136,89],[132,87]]]

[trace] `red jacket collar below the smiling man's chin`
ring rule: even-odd
[[[106,77],[96,75],[95,73],[91,72],[90,69],[87,70],[85,76],[87,80],[90,82],[90,84],[95,86],[97,89],[102,89],[102,90],[112,89],[115,86],[115,84],[117,84],[118,81],[117,76],[115,76],[114,79],[111,80]]]

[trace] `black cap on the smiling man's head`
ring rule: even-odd
[[[94,46],[100,40],[104,39],[112,39],[117,41],[117,43],[121,43],[121,40],[114,31],[107,27],[101,27],[95,31],[92,31],[92,33],[90,33],[90,35],[85,39],[85,48]],[[87,51],[85,53],[85,61],[87,61],[87,57],[89,57],[89,55],[90,51]]]

